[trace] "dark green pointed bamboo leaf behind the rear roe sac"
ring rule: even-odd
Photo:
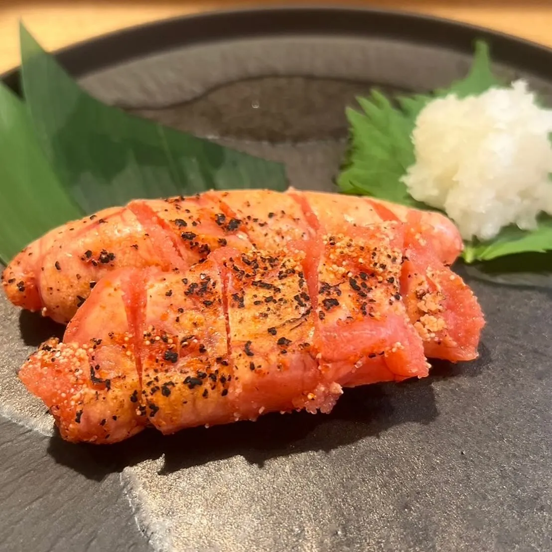
[[[134,198],[287,187],[282,164],[127,114],[83,91],[20,26],[25,102],[60,181],[87,213]]]

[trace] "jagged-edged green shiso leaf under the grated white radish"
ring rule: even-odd
[[[362,112],[347,109],[349,147],[337,178],[339,188],[343,193],[370,195],[418,209],[432,209],[413,199],[401,182],[408,167],[415,163],[411,135],[418,114],[434,98],[451,93],[464,98],[501,86],[503,83],[491,70],[489,46],[479,40],[468,75],[449,88],[391,99],[373,91],[368,98],[358,98]],[[488,242],[465,242],[463,258],[473,263],[549,250],[552,250],[552,217],[540,216],[535,230],[524,231],[512,225],[503,228]]]

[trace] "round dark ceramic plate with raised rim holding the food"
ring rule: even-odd
[[[383,12],[201,15],[60,60],[107,102],[283,160],[298,187],[333,189],[354,96],[444,86],[466,71],[477,36],[498,71],[550,98],[550,51]],[[2,297],[0,548],[551,550],[552,288],[469,280],[488,321],[477,362],[349,390],[329,416],[103,448],[62,442],[19,385],[25,355],[59,328]]]

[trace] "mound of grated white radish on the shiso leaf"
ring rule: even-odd
[[[442,209],[462,237],[489,240],[503,226],[523,230],[552,214],[552,110],[527,83],[459,99],[432,100],[418,115],[416,163],[402,181],[418,201]]]

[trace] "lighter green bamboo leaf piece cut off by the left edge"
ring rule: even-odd
[[[25,104],[0,83],[0,262],[52,228],[79,219],[41,150]]]

